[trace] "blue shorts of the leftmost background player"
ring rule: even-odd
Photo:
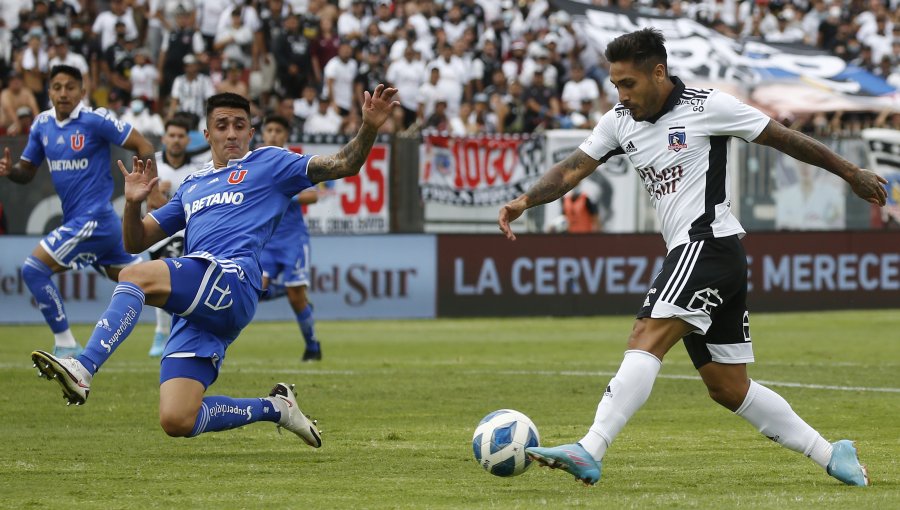
[[[93,266],[104,272],[105,266],[121,268],[141,261],[125,251],[122,220],[112,208],[70,219],[41,239],[41,248],[69,269]]]

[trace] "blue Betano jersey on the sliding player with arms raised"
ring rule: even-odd
[[[310,159],[263,147],[219,169],[208,163],[151,216],[168,235],[185,229],[187,256],[235,263],[260,288],[259,253],[294,195],[312,186],[306,175]]]

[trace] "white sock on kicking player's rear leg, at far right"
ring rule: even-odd
[[[831,443],[803,421],[781,395],[769,388],[751,380],[750,391],[734,414],[749,421],[781,446],[806,455],[822,468],[828,466]]]

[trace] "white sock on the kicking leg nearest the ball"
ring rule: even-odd
[[[594,424],[579,441],[594,460],[600,462],[603,459],[606,449],[622,427],[647,401],[661,367],[659,358],[649,352],[625,351],[619,371],[609,381],[603,398],[597,404]]]

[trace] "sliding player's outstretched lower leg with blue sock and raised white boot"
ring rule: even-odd
[[[123,282],[113,291],[109,308],[100,316],[84,352],[77,358],[60,358],[44,351],[31,359],[47,379],[56,379],[71,404],[83,404],[90,393],[91,379],[103,363],[134,329],[144,306],[144,292]]]

